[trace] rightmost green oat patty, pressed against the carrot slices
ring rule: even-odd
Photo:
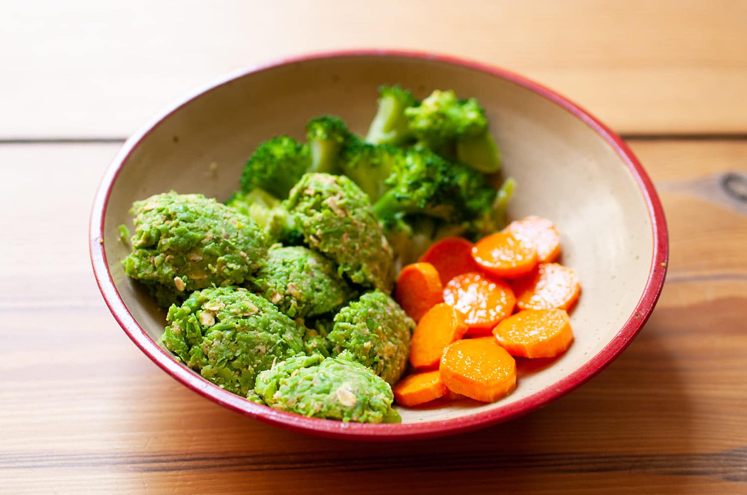
[[[353,359],[394,385],[407,365],[415,321],[382,291],[363,294],[335,315],[327,335],[333,356],[347,350]]]

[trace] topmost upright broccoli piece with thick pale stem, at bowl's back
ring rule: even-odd
[[[414,107],[418,100],[400,86],[379,86],[379,108],[368,128],[366,141],[375,145],[401,145],[412,139],[405,109]]]

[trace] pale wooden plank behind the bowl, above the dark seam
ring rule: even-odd
[[[293,54],[414,48],[503,66],[624,133],[746,133],[747,2],[4,2],[0,139],[128,136]]]

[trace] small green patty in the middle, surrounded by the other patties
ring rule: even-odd
[[[354,294],[334,262],[302,246],[271,248],[252,287],[291,318],[332,311]]]

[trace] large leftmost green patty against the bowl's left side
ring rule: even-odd
[[[130,212],[135,233],[125,273],[164,307],[191,291],[244,283],[267,256],[257,224],[203,195],[167,192],[136,201]]]

